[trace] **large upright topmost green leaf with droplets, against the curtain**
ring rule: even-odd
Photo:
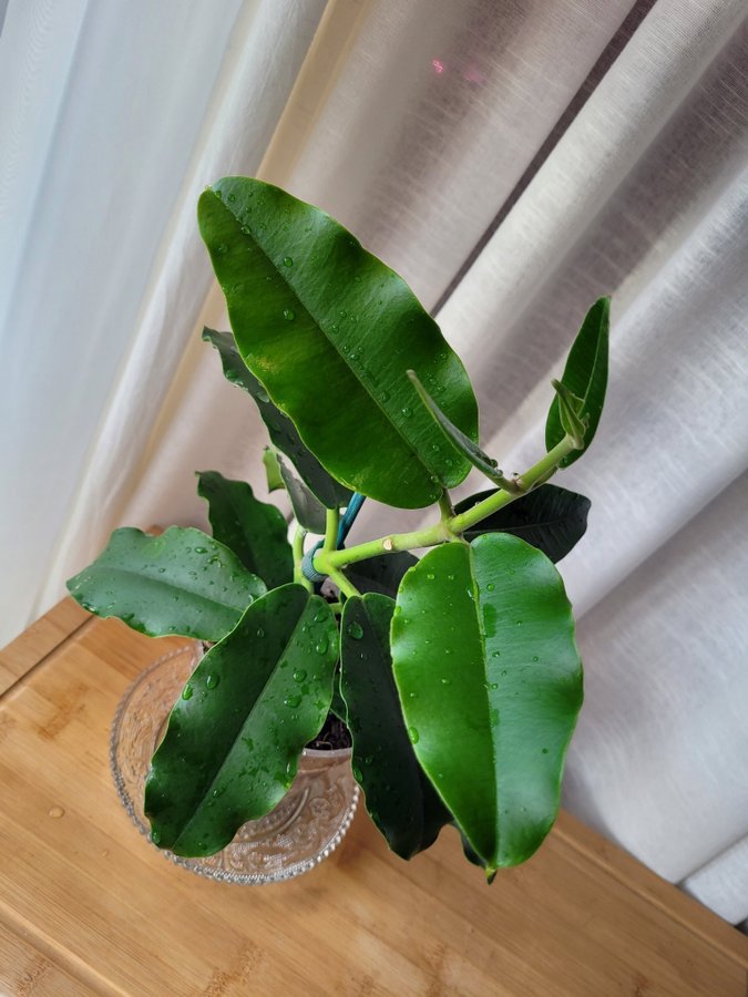
[[[444,448],[406,371],[477,435],[465,370],[402,278],[318,208],[247,177],[198,204],[242,357],[305,444],[348,487],[380,502],[436,502],[468,464]]]

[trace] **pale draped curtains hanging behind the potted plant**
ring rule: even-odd
[[[8,636],[111,527],[201,522],[195,469],[262,487],[264,434],[196,336],[225,322],[193,220],[222,173],[262,171],[407,277],[511,469],[540,452],[549,379],[612,292],[606,413],[562,481],[593,500],[561,565],[587,676],[565,805],[742,921],[745,3],[322,6],[144,7],[123,40],[125,4],[10,2]],[[357,530],[387,523],[370,503]]]

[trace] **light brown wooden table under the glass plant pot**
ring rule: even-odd
[[[565,814],[492,887],[451,830],[404,863],[361,810],[287,883],[172,865],[122,809],[107,740],[181,643],[65,600],[0,652],[1,994],[745,997],[748,938]]]

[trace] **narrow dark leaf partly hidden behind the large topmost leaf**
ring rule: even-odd
[[[304,445],[294,423],[277,405],[273,404],[265,388],[247,369],[236,349],[232,333],[216,332],[214,329],[206,328],[203,329],[203,339],[218,350],[226,380],[243,388],[254,398],[273,445],[286,454],[319,502],[326,508],[348,505],[351,496],[350,490],[328,474],[317,458]]]

